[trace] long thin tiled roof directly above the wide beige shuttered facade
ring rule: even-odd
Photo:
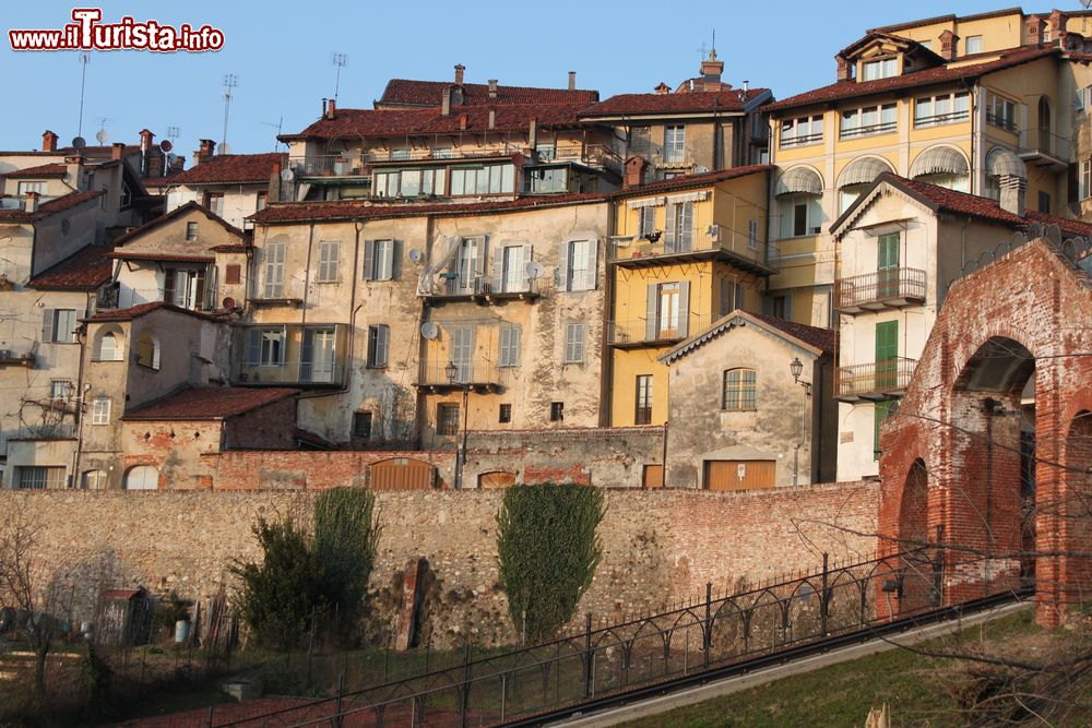
[[[515,200],[470,203],[384,204],[365,200],[288,202],[272,204],[265,210],[251,215],[249,219],[254,220],[259,225],[276,225],[278,223],[297,223],[312,219],[385,219],[390,217],[414,217],[416,215],[476,215],[480,213],[519,212],[537,207],[606,202],[610,196],[610,193],[604,192],[526,196],[517,198]]]

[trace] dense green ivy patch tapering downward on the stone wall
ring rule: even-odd
[[[591,586],[603,547],[603,491],[575,484],[515,486],[497,515],[500,583],[524,640],[553,636]]]

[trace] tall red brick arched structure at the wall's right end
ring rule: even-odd
[[[1021,498],[1024,408],[1019,390],[1033,375],[1035,462],[1047,464],[1036,467],[1032,511],[1035,551],[1047,554],[1034,561],[1038,620],[1057,624],[1064,613],[1065,586],[1075,585],[1081,564],[1051,556],[1059,545],[1049,534],[1061,533],[1061,523],[1045,505],[1070,494],[1073,482],[1064,477],[1063,461],[1070,420],[1092,411],[1092,356],[1082,356],[1092,353],[1092,336],[1079,323],[1092,320],[1090,284],[1088,274],[1046,239],[959,278],[898,414],[881,427],[880,553],[892,556],[901,535],[919,526],[918,515],[905,508],[921,502],[910,492],[916,486],[907,484],[921,458],[930,486],[925,521],[945,546],[947,604],[1020,584],[1029,508]],[[999,343],[1021,348],[1006,361],[998,356],[1005,351]],[[1092,420],[1088,427],[1092,439]],[[1051,586],[1059,582],[1064,588]]]

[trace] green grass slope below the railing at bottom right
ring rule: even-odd
[[[1048,633],[1037,628],[1030,611],[964,630],[958,637],[962,646],[981,644],[987,648],[1021,643],[1042,645],[1067,639],[1065,633]],[[953,640],[957,639],[940,639],[921,646],[951,647],[956,644]],[[887,704],[892,726],[959,726],[965,721],[960,719],[959,705],[950,691],[954,678],[951,667],[948,659],[892,649],[625,725],[628,728],[856,728],[865,725],[869,708]]]

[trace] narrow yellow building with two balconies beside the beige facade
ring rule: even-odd
[[[737,167],[617,195],[607,253],[610,425],[663,425],[660,356],[733,310],[760,308],[778,258],[765,242],[769,172]]]

